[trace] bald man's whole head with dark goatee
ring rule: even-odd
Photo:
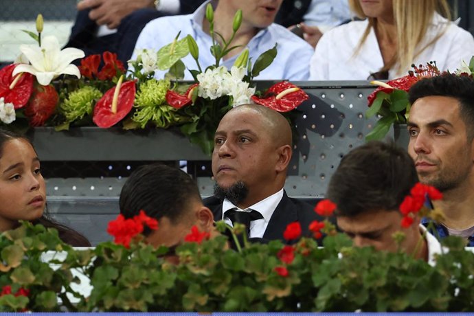
[[[265,106],[237,106],[224,115],[214,137],[214,193],[238,207],[261,201],[283,188],[290,159],[289,122]]]

